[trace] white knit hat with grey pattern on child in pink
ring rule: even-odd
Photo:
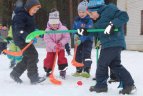
[[[60,23],[59,11],[54,11],[49,13],[49,24],[59,24],[59,23]]]

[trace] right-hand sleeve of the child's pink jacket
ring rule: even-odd
[[[64,30],[68,30],[68,29],[65,27]],[[70,34],[65,33],[65,34],[62,34],[62,39],[59,41],[59,43],[61,43],[62,46],[65,46],[69,41],[70,41]]]

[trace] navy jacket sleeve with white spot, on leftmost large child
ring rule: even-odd
[[[14,29],[15,29],[15,34],[17,36],[20,36],[25,40],[26,36],[28,35],[28,32],[24,30],[25,27],[25,22],[26,22],[26,16],[25,14],[20,14],[16,15],[14,17]]]

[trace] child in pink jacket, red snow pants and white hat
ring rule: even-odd
[[[48,30],[67,30],[59,20],[59,12],[52,10],[49,14],[49,21],[47,23],[46,31]],[[54,57],[56,49],[58,48],[58,69],[60,70],[60,76],[65,78],[66,69],[68,66],[67,59],[65,58],[65,44],[70,40],[69,33],[58,34],[46,34],[44,35],[44,41],[46,42],[47,56],[44,59],[44,69],[47,76],[50,75],[54,63]]]

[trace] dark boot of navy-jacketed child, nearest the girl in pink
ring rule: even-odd
[[[38,84],[46,80],[45,77],[39,77],[38,75],[30,76],[31,84]]]

